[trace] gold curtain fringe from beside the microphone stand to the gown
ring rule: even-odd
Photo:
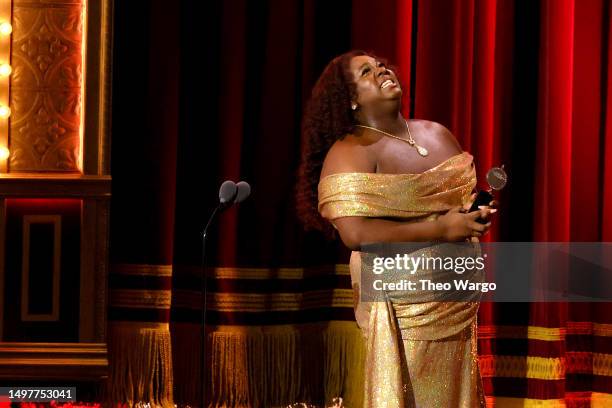
[[[198,327],[173,324],[175,345],[198,349],[193,334]],[[365,347],[354,322],[218,326],[207,340],[211,407],[280,407],[296,401],[318,405],[321,398],[329,406],[339,396],[347,407],[363,405]],[[197,405],[199,351],[185,354],[175,353],[176,399]]]

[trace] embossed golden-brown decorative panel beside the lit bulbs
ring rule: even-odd
[[[10,172],[80,169],[84,0],[15,0]]]

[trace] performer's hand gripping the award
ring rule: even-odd
[[[483,218],[488,219],[491,211],[494,209],[483,208],[478,211],[472,211],[471,213],[463,213],[461,210],[463,207],[455,207],[440,217],[437,222],[442,228],[442,237],[444,241],[464,241],[467,238],[480,237],[486,233],[491,227],[491,222],[486,224],[480,224],[476,222],[476,219]],[[494,211],[493,211],[494,212]]]

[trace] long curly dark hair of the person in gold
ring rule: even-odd
[[[356,87],[349,66],[351,59],[359,55],[372,54],[350,51],[327,64],[312,90],[302,121],[297,213],[306,230],[319,230],[328,237],[333,236],[333,229],[317,209],[317,186],[327,151],[336,140],[352,133],[357,124],[351,109]]]

